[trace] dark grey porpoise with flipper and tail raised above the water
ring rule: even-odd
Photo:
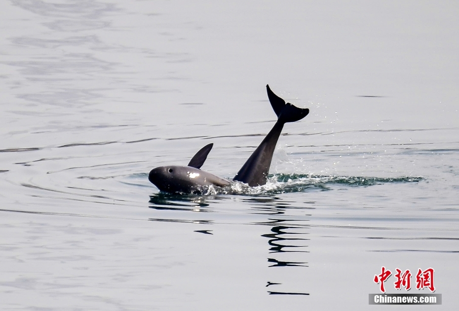
[[[307,108],[298,108],[290,103],[285,103],[282,98],[271,91],[269,85],[266,85],[266,88],[271,107],[277,115],[277,121],[233,178],[234,181],[243,182],[250,187],[266,184],[272,155],[284,124],[301,120],[309,113]],[[209,144],[199,150],[191,158],[188,166],[160,166],[152,169],[148,179],[160,191],[168,193],[200,194],[209,186],[228,186],[231,183],[228,179],[200,170],[212,146],[213,144]]]

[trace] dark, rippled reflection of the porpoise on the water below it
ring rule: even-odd
[[[226,212],[216,208],[216,203],[226,203],[230,201],[231,206],[234,203],[242,202],[247,206],[242,210],[234,208]],[[314,202],[298,202],[284,199],[279,195],[260,195],[260,196],[229,196],[229,195],[177,195],[157,193],[150,195],[150,208],[160,211],[159,217],[149,218],[150,221],[189,223],[189,224],[206,224],[212,225],[213,230],[194,230],[196,233],[214,235],[214,231],[220,229],[219,226],[225,225],[255,225],[263,226],[268,232],[261,234],[267,238],[267,262],[269,270],[289,267],[285,271],[285,279],[268,280],[267,285],[272,286],[275,290],[269,290],[269,295],[308,295],[299,290],[298,292],[282,291],[284,286],[288,286],[288,273],[298,273],[297,269],[308,267],[306,250],[309,241],[307,230],[310,228],[310,204]],[[170,213],[175,211],[177,213]],[[189,212],[213,212],[212,219],[195,219],[197,214]],[[232,216],[229,217],[229,214]],[[167,215],[167,217],[166,217]],[[228,222],[229,219],[235,222]],[[251,220],[251,221],[247,221]],[[228,247],[234,247],[228,245]],[[260,262],[260,265],[263,265]],[[295,267],[290,270],[292,267]],[[282,274],[283,275],[283,274]],[[268,275],[267,275],[268,276]],[[270,288],[271,289],[271,288]]]

